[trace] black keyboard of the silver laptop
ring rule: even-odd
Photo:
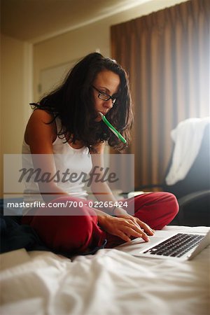
[[[190,249],[197,246],[203,238],[203,235],[179,233],[170,237],[166,241],[162,241],[162,243],[153,246],[153,248],[144,251],[144,253],[150,253],[151,255],[181,257],[190,251]]]

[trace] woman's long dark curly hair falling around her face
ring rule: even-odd
[[[56,117],[60,118],[62,130],[57,130],[58,137],[73,144],[79,140],[89,150],[101,141],[108,141],[109,146],[120,151],[125,148],[125,144],[102,120],[95,120],[98,114],[94,109],[92,83],[104,69],[113,71],[120,77],[118,98],[106,118],[129,143],[133,114],[127,73],[115,60],[103,57],[98,52],[92,52],[81,59],[67,73],[59,87],[45,95],[38,104],[32,105],[34,109],[52,113],[52,121]]]

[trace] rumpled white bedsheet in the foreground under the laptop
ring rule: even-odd
[[[73,261],[46,251],[3,253],[1,314],[207,315],[209,251],[186,262],[136,258],[116,249]]]

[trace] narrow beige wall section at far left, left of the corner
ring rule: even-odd
[[[1,196],[3,154],[21,153],[31,98],[31,45],[1,36]]]

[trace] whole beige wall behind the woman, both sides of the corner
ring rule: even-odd
[[[41,70],[71,62],[98,49],[102,54],[110,55],[111,25],[183,1],[186,0],[152,0],[34,45],[1,36],[1,196],[3,153],[21,152],[22,137],[30,113],[29,102],[38,100]]]

